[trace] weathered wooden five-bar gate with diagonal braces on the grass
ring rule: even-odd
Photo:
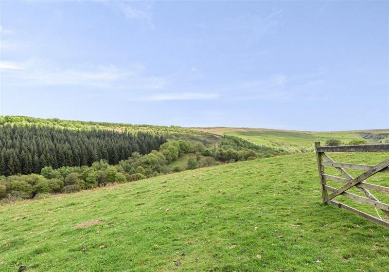
[[[354,199],[355,201],[374,206],[375,209],[378,208],[382,210],[386,215],[389,216],[389,205],[381,202],[369,191],[369,190],[373,190],[373,191],[389,194],[389,187],[364,182],[367,178],[370,178],[376,173],[379,172],[389,173],[389,168],[388,168],[389,158],[387,158],[385,161],[381,163],[378,163],[377,165],[336,163],[325,153],[325,152],[389,152],[389,144],[320,146],[320,142],[317,142],[315,143],[315,148],[316,148],[316,159],[318,160],[318,171],[319,171],[321,194],[322,194],[323,202],[332,204],[339,208],[346,209],[360,217],[366,218],[376,224],[389,228],[389,221],[383,220],[380,217],[378,211],[377,211],[377,216],[379,218],[334,200],[336,196],[341,195],[343,197]],[[325,174],[324,166],[335,167],[336,170],[344,176],[344,178]],[[365,170],[365,172],[359,175],[358,177],[353,178],[343,168]],[[336,181],[345,184],[337,189],[328,186],[326,184],[326,180]],[[356,187],[358,190],[360,190],[366,196],[366,198],[347,192],[347,190],[352,187]]]

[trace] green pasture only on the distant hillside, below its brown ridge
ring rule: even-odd
[[[324,145],[328,139],[339,139],[345,144],[352,140],[363,140],[362,136],[355,132],[297,132],[297,131],[233,131],[225,132],[225,135],[232,135],[250,141],[257,145],[292,146],[292,147],[313,147],[317,141]]]

